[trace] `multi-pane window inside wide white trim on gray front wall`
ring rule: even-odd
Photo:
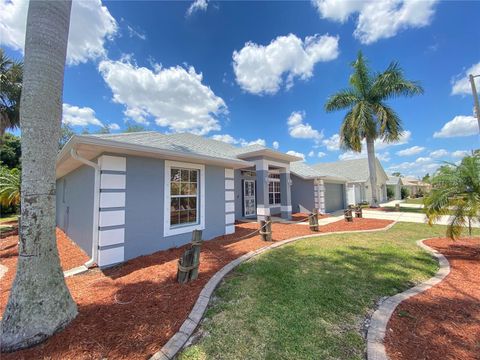
[[[198,169],[170,168],[170,225],[198,223]]]

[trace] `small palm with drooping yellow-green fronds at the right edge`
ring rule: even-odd
[[[424,199],[429,224],[450,215],[447,236],[456,239],[472,221],[480,222],[480,155],[466,156],[459,165],[447,163],[431,179],[432,190]]]

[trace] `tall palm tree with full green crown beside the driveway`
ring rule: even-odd
[[[368,68],[362,52],[352,63],[350,87],[330,96],[325,110],[332,112],[348,109],[340,128],[341,146],[346,150],[362,151],[362,141],[367,143],[368,170],[372,189],[371,206],[377,204],[377,178],[375,165],[376,139],[398,141],[403,133],[402,123],[395,111],[385,101],[398,96],[422,94],[422,87],[406,80],[397,62],[392,62],[382,73]]]

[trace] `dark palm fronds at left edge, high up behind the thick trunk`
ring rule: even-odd
[[[6,129],[15,129],[20,125],[22,78],[22,62],[8,58],[0,49],[0,141]]]

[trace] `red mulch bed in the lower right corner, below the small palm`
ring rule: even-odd
[[[480,238],[425,243],[447,257],[451,272],[440,284],[397,307],[388,322],[387,353],[392,360],[478,360]]]

